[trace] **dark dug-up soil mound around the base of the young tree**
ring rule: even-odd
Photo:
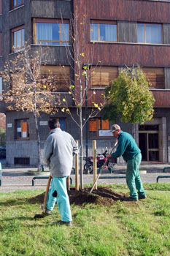
[[[129,194],[124,194],[121,192],[115,192],[110,187],[98,187],[98,189],[93,189],[90,194],[90,187],[85,189],[80,189],[79,191],[71,188],[68,192],[70,204],[75,204],[78,206],[83,206],[87,203],[95,203],[102,206],[110,206],[117,200],[123,201]],[[43,203],[45,197],[45,192],[37,195],[36,197],[31,197],[29,203]],[[129,202],[133,203],[133,202]]]

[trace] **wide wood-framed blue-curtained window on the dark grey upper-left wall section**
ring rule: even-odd
[[[69,23],[61,20],[34,19],[36,45],[69,45]]]

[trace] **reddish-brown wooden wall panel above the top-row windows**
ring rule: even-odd
[[[74,0],[80,13],[88,10],[93,19],[170,23],[170,4],[161,1],[137,0]]]

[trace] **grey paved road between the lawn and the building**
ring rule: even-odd
[[[142,182],[155,183],[158,176],[170,176],[169,173],[163,173],[163,167],[170,167],[169,165],[141,165],[142,170],[147,170],[146,174],[141,174]],[[21,167],[21,168],[9,168],[2,167],[2,178],[0,192],[14,192],[18,190],[39,190],[46,189],[47,179],[36,179],[34,187],[32,186],[32,178],[36,176],[34,172],[36,168]],[[115,165],[114,173],[108,173],[108,170],[104,170],[102,175],[104,176],[125,176],[125,165]],[[38,176],[49,176],[49,173],[39,174]],[[71,175],[72,183],[75,184],[74,174]],[[84,184],[93,184],[93,174],[85,174],[83,176]],[[169,182],[170,178],[161,178],[159,182]],[[98,184],[125,184],[125,178],[107,178],[99,179]]]

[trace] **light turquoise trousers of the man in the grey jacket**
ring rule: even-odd
[[[53,197],[53,192],[57,191],[57,197]],[[66,176],[53,177],[51,188],[47,196],[46,208],[50,211],[53,210],[57,201],[58,209],[61,214],[61,220],[63,222],[71,222],[72,214],[69,204],[69,196],[66,189]]]

